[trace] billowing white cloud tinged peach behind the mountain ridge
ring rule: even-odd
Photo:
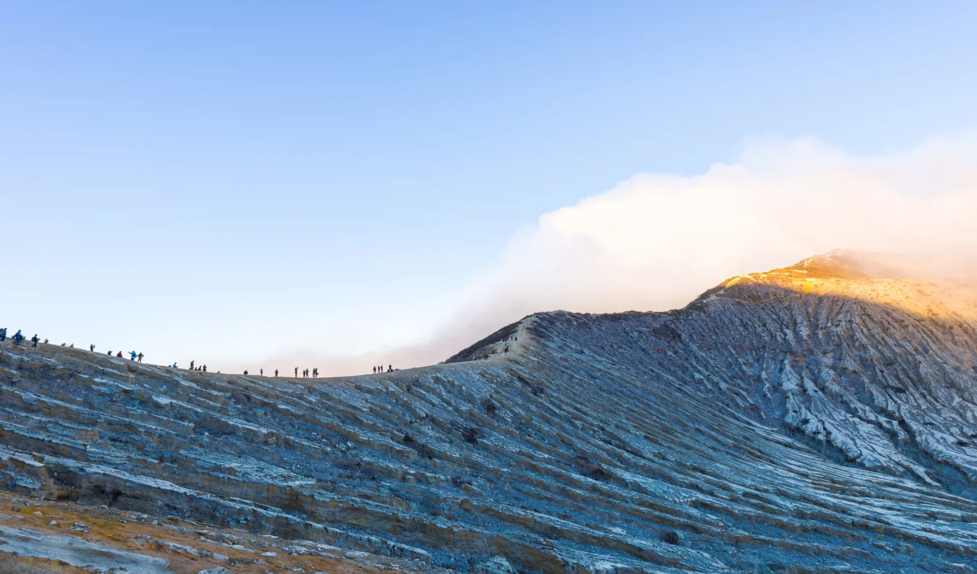
[[[639,174],[539,218],[429,345],[435,362],[535,311],[679,308],[723,279],[836,248],[977,263],[977,139],[856,157],[810,139],[749,141],[691,176]],[[361,364],[333,363],[332,372]],[[366,364],[371,364],[366,361]],[[323,369],[324,371],[324,369]]]

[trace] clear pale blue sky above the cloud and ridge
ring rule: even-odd
[[[964,2],[2,3],[0,326],[158,362],[417,342],[518,229],[636,173],[973,129],[974,29]]]

